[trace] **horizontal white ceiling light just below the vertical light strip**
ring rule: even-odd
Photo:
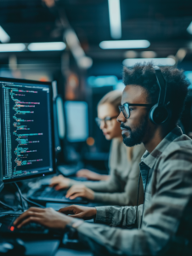
[[[103,41],[99,46],[101,49],[138,49],[148,48],[150,46],[150,42],[147,40]]]

